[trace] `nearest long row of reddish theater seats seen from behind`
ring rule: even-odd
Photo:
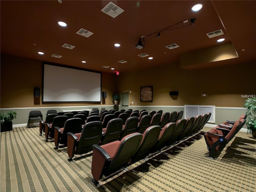
[[[131,133],[124,136],[120,141],[101,146],[94,144],[92,146],[92,182],[97,186],[103,175],[110,176],[121,168],[146,158],[150,153],[158,152],[165,146],[170,146],[178,140],[184,139],[192,129],[193,132],[197,132],[196,130],[200,130],[201,126],[206,124],[210,115],[208,113],[202,115],[205,116],[204,118],[197,116],[187,120],[180,119],[176,123],[167,123],[164,128],[154,125],[146,128],[143,134]],[[202,119],[204,119],[203,122]],[[183,134],[185,130],[186,132]]]

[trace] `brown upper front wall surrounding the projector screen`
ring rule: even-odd
[[[61,103],[34,105],[34,87],[40,87],[42,94],[42,61],[1,54],[0,107],[46,107],[46,106],[87,106],[100,103]],[[112,105],[116,92],[116,75],[102,73],[102,91],[107,92],[106,105]],[[102,104],[102,103],[101,103]]]

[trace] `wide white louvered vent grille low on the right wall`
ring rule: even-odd
[[[209,123],[215,123],[215,106],[213,105],[184,105],[184,117],[195,117],[206,113],[212,113]]]

